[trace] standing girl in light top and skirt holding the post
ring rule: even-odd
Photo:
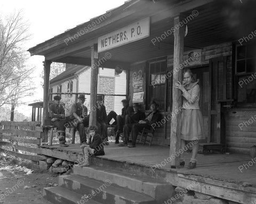
[[[192,158],[188,168],[195,168],[198,140],[205,139],[203,116],[199,108],[200,88],[189,69],[183,72],[183,85],[180,82],[175,83],[175,88],[180,89],[183,96],[180,145],[181,149],[185,149],[185,141],[193,141]],[[185,165],[183,154],[180,156],[180,165]]]

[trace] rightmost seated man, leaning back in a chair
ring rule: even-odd
[[[155,101],[151,101],[150,103],[151,112],[148,114],[145,120],[139,121],[139,123],[132,125],[132,143],[127,147],[135,147],[135,143],[138,137],[138,133],[146,128],[148,130],[151,129],[151,125],[161,120],[161,114],[157,111],[157,104]]]

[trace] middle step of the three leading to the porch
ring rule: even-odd
[[[132,191],[111,183],[90,179],[81,175],[59,176],[59,185],[70,191],[86,195],[90,199],[100,203],[122,203],[122,204],[156,204],[156,200],[146,194]]]

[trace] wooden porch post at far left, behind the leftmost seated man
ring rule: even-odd
[[[45,119],[48,119],[48,104],[49,104],[49,83],[50,83],[50,70],[51,61],[44,61],[44,103],[43,103],[43,121],[44,125]]]

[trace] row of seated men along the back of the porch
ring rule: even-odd
[[[60,104],[60,99],[60,96],[54,96],[54,103],[49,107],[51,123],[57,126],[59,131],[60,146],[68,147],[65,139],[65,128],[67,125],[72,124],[79,132],[81,145],[87,147],[85,127],[89,126],[89,115],[87,114],[87,107],[84,105],[85,96],[79,95],[78,102],[72,105],[70,116],[68,117],[65,117],[65,109]],[[110,121],[114,119],[111,125],[115,125],[115,143],[119,143],[120,134],[123,133],[123,142],[118,146],[133,148],[139,132],[143,128],[151,129],[151,125],[161,120],[161,114],[157,111],[158,105],[155,101],[151,101],[151,112],[147,116],[140,111],[138,103],[134,103],[132,107],[129,106],[129,101],[126,99],[122,100],[122,103],[121,115],[117,115],[114,111],[109,112],[107,115],[102,96],[97,96],[97,103],[94,108],[91,108],[91,111],[97,111],[97,127],[89,127],[89,131],[91,132],[91,129],[94,130],[97,135],[100,135],[101,142],[104,145],[108,145],[107,128],[110,125]],[[132,136],[131,142],[129,142],[130,133]]]

